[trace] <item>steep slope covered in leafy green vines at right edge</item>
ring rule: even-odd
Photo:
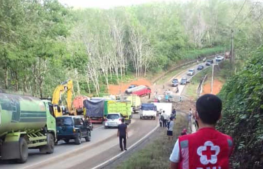
[[[263,168],[263,47],[219,93],[223,117],[218,129],[233,137],[232,168]]]

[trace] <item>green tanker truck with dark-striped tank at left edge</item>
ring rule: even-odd
[[[28,149],[51,154],[56,120],[50,101],[0,93],[0,160],[27,161]]]

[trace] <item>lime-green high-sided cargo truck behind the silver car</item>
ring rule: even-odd
[[[130,124],[132,118],[132,107],[130,101],[108,100],[104,102],[104,117],[110,113],[120,113],[125,123]]]

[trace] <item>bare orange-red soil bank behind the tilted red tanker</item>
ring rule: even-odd
[[[124,93],[130,85],[147,85],[151,87],[151,82],[144,78],[140,78],[129,83],[122,83],[120,85],[109,85],[109,93],[114,95],[119,94],[120,92]]]

